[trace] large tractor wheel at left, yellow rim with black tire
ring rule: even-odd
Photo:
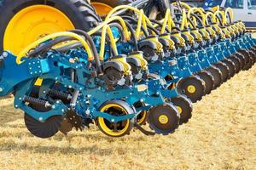
[[[19,54],[40,37],[74,28],[90,30],[101,21],[95,9],[84,0],[0,2],[0,53]]]

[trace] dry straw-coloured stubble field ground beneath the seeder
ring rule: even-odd
[[[96,127],[38,139],[11,99],[1,100],[1,169],[255,169],[256,66],[194,106],[189,123],[168,136],[139,132],[113,139]]]

